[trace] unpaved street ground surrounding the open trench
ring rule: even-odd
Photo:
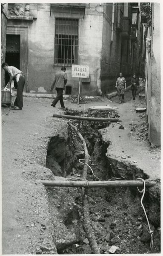
[[[117,107],[121,122],[100,130],[102,140],[111,142],[106,157],[136,166],[149,180],[157,181],[158,186],[160,148],[151,148],[145,137],[142,140],[139,137],[145,114],[136,113],[135,108],[144,105],[144,98],[137,96],[135,102],[131,98],[129,91],[123,104],[118,104],[116,96],[112,98],[113,102],[104,98],[80,105],[65,100],[65,106],[77,111],[108,104]],[[58,221],[57,207],[51,217],[49,194],[40,180],[55,177],[46,168],[47,145],[49,137],[67,136],[68,120],[52,117],[53,113],[64,111],[52,108],[50,103],[51,100],[46,98],[24,97],[23,111],[2,108],[2,254],[36,254],[39,250],[43,254],[57,252],[53,238],[64,227],[62,221]],[[120,124],[124,130],[119,129]],[[153,191],[156,193],[156,189]],[[55,229],[52,219],[56,222]],[[155,253],[159,252],[159,247],[154,248]],[[120,250],[120,253],[125,252]]]

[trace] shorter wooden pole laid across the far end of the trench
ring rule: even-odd
[[[70,116],[70,115],[59,115],[53,114],[53,117],[66,118],[66,119],[77,119],[94,122],[118,122],[118,118],[101,118],[101,117],[87,117],[87,116]]]

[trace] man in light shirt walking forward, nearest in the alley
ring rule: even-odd
[[[126,79],[122,76],[122,73],[120,73],[120,76],[117,78],[115,87],[117,88],[117,94],[119,97],[120,102],[124,102],[124,93],[126,91]]]

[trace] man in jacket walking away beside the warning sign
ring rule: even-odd
[[[66,67],[61,67],[61,71],[57,72],[54,78],[53,83],[51,84],[51,91],[53,88],[57,90],[57,97],[51,103],[51,106],[54,108],[58,101],[60,101],[61,108],[65,108],[63,102],[63,90],[65,90],[65,86],[67,83],[67,74]]]

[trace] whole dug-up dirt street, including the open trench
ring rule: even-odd
[[[156,181],[146,188],[143,199],[154,247],[140,204],[137,188],[88,189],[90,217],[100,253],[160,253],[160,148],[147,140],[146,114],[136,113],[145,106],[144,98],[125,103],[117,96],[87,104],[65,100],[67,114],[108,117],[112,111],[88,112],[91,106],[116,107],[119,121],[111,124],[80,123],[94,175],[103,180]],[[51,99],[24,97],[22,111],[2,107],[2,254],[89,254],[83,230],[81,188],[46,187],[41,180],[80,178],[83,146],[66,114]],[[88,100],[87,100],[88,101]],[[82,112],[83,111],[83,112]],[[109,114],[110,112],[110,114]],[[115,117],[115,116],[114,116]],[[123,125],[124,129],[119,129]],[[79,126],[78,126],[79,127]],[[89,169],[88,180],[98,180]]]

